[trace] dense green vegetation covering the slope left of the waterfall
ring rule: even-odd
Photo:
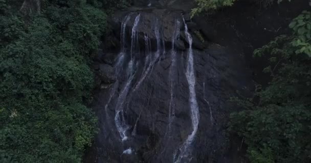
[[[0,0],[0,162],[80,162],[106,1],[25,2]]]

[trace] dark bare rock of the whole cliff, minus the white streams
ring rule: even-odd
[[[151,6],[147,7],[149,3]],[[103,47],[103,51],[96,59],[97,65],[93,66],[93,69],[98,72],[97,83],[103,84],[105,78],[113,79],[108,80],[109,82],[116,82],[104,85],[95,94],[93,109],[98,116],[100,130],[93,146],[87,149],[84,162],[174,162],[174,154],[178,154],[176,151],[193,130],[190,115],[189,84],[185,74],[189,41],[186,39],[182,13],[193,39],[195,92],[200,116],[197,133],[189,147],[192,159],[186,162],[241,162],[230,156],[232,155],[230,151],[236,154],[236,149],[232,149],[225,138],[229,113],[232,110],[237,110],[230,105],[228,99],[236,96],[237,92],[247,95],[253,88],[251,72],[246,70],[244,60],[248,57],[243,56],[252,56],[254,47],[251,45],[258,47],[268,42],[274,35],[286,33],[281,28],[271,36],[266,31],[262,32],[262,29],[260,33],[255,33],[255,31],[249,31],[246,28],[251,27],[253,30],[260,31],[254,27],[257,20],[262,20],[262,17],[271,14],[270,12],[276,12],[274,15],[277,17],[278,11],[263,12],[263,14],[255,14],[254,17],[246,17],[244,19],[247,19],[247,23],[243,23],[249,23],[249,25],[241,26],[240,24],[243,23],[240,21],[243,20],[239,19],[247,14],[245,12],[236,14],[235,17],[228,20],[228,15],[230,16],[234,12],[230,10],[227,11],[228,13],[219,14],[219,17],[216,15],[216,19],[213,21],[208,21],[200,16],[191,20],[189,12],[193,8],[193,1],[134,1],[134,4],[135,7],[127,11],[117,12],[115,17],[110,20],[114,29],[112,42],[120,42],[121,23],[124,22],[126,15],[131,14],[125,26],[125,56],[127,59],[124,60],[124,66],[120,69],[120,72],[124,73],[119,74],[119,77],[113,74],[115,70],[112,67],[116,67],[120,57],[120,49],[118,48],[121,45],[117,43],[113,43],[114,45],[107,44],[106,47]],[[237,4],[237,7],[234,10],[245,8],[245,3],[241,2],[241,4]],[[250,7],[247,10],[252,13],[251,10],[254,8]],[[282,12],[280,13],[282,14]],[[131,56],[129,52],[132,42],[131,32],[135,18],[139,14],[141,17],[136,30],[139,47],[137,47],[138,50],[134,50],[139,55],[135,56],[137,60],[134,66],[135,77],[130,83],[129,93],[124,98],[122,110],[124,117],[121,118],[128,126],[126,130],[128,139],[122,141],[120,132],[116,128],[116,106],[120,105],[118,99],[122,95],[126,83],[128,83],[128,75],[131,74],[126,73],[129,56]],[[170,113],[170,81],[172,77],[169,74],[173,65],[171,46],[176,20],[181,22],[181,32],[180,38],[174,42],[177,49],[176,73],[173,76],[176,86],[173,95],[175,113],[170,122],[170,115],[172,115]],[[286,22],[279,24],[270,23],[271,21],[268,20],[266,22],[269,24],[269,29],[275,29],[275,26],[279,24],[283,24],[283,26],[288,24],[287,19]],[[157,41],[155,35],[155,26],[158,26],[160,32],[160,46],[163,53],[154,66],[150,68],[142,84],[136,89],[146,71],[144,65],[148,61],[149,53],[144,53],[144,51],[151,51],[151,56],[157,54],[159,40]],[[258,28],[261,27],[259,25]],[[195,31],[202,34],[204,42],[194,33]],[[145,36],[150,39],[148,45],[145,43]],[[262,39],[261,37],[265,38]],[[258,40],[261,39],[258,41],[257,38]],[[215,42],[223,46],[215,44]],[[103,65],[110,67],[107,66],[106,69]],[[100,71],[101,68],[102,71]],[[100,75],[100,72],[104,72],[104,75]],[[128,149],[131,149],[130,154],[127,154]]]

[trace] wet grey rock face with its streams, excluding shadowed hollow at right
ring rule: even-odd
[[[95,96],[100,131],[85,162],[231,162],[226,101],[251,83],[237,58],[222,46],[198,43],[180,11],[120,15],[114,23],[121,49],[102,52],[94,68],[101,83],[111,85]]]

